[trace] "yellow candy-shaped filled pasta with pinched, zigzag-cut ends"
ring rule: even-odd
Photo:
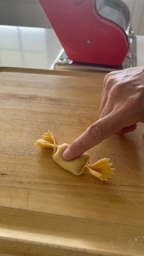
[[[57,145],[54,136],[50,131],[46,132],[45,135],[42,136],[42,139],[37,140],[34,145],[53,148],[54,152],[52,158],[54,161],[75,175],[91,174],[100,180],[107,180],[107,178],[111,178],[111,175],[114,173],[114,168],[112,168],[112,164],[109,163],[110,159],[108,158],[101,159],[94,164],[89,164],[90,156],[84,153],[74,160],[65,161],[62,154],[64,150],[68,148],[69,144],[64,143],[62,145]]]

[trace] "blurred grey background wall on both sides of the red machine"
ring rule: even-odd
[[[123,1],[130,8],[135,34],[144,35],[144,0]],[[51,27],[38,0],[0,0],[0,24]]]

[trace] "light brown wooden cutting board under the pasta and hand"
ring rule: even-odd
[[[74,176],[34,146],[48,129],[71,143],[98,119],[105,74],[0,69],[0,253],[144,255],[144,126],[91,150],[108,182]]]

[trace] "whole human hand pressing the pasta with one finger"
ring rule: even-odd
[[[72,142],[63,158],[72,160],[113,134],[132,132],[138,122],[144,123],[144,66],[110,72],[104,78],[99,120]]]

